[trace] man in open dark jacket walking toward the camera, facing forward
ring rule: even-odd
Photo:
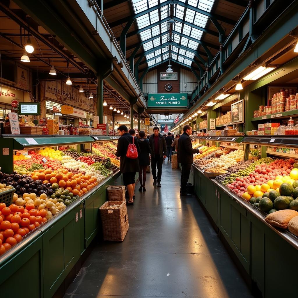
[[[151,149],[151,171],[153,175],[153,185],[161,187],[162,179],[162,160],[167,157],[167,144],[165,138],[159,133],[159,128],[153,128],[154,134],[150,136],[149,144]],[[157,176],[156,176],[157,164]]]

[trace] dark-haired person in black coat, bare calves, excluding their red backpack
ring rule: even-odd
[[[135,176],[139,172],[139,159],[131,159],[126,156],[128,145],[133,143],[136,145],[138,154],[140,154],[140,147],[138,140],[135,136],[128,133],[126,125],[120,125],[118,132],[121,136],[117,143],[116,156],[120,157],[120,172],[123,174],[123,184],[127,187],[129,199],[126,202],[128,206],[134,206],[134,189],[135,189]]]

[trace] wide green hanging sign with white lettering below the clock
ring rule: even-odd
[[[187,93],[149,93],[148,108],[188,107]]]

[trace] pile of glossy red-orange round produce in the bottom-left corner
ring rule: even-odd
[[[30,210],[28,210],[30,209]],[[0,255],[21,241],[22,237],[46,221],[46,210],[0,203]]]

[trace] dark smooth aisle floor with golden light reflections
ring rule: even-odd
[[[161,188],[151,173],[137,185],[125,240],[99,243],[65,298],[253,297],[197,199],[180,198],[180,170],[162,170]]]

